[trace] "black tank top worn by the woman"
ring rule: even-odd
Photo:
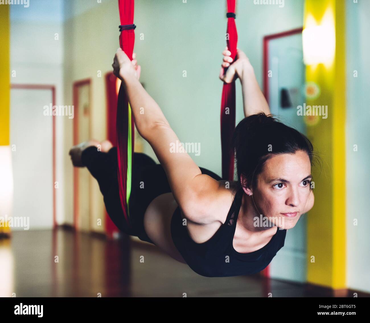
[[[269,243],[259,250],[238,253],[233,248],[243,192],[243,189],[240,189],[236,193],[225,223],[204,243],[192,240],[183,225],[180,208],[176,208],[171,219],[172,240],[189,267],[199,275],[228,277],[258,273],[268,266],[277,251],[284,246],[286,229],[277,228]]]

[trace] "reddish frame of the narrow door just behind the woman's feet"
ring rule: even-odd
[[[89,108],[91,108],[91,78],[79,80],[73,83],[73,105],[74,105],[74,118],[73,118],[73,145],[78,144],[78,88],[82,85],[89,86]],[[91,111],[91,109],[90,109]],[[91,118],[91,114],[90,114]],[[89,137],[91,137],[91,119],[89,120]],[[73,227],[75,230],[78,230],[78,205],[79,205],[79,196],[78,196],[78,168],[73,168]]]

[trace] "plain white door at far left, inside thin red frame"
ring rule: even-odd
[[[13,217],[28,221],[29,230],[50,229],[54,190],[53,116],[44,115],[44,106],[52,103],[52,93],[48,89],[11,89],[10,93]]]

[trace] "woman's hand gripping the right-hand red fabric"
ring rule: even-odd
[[[243,70],[246,66],[251,66],[248,57],[245,53],[236,47],[236,60],[233,62],[231,58],[231,52],[228,50],[228,47],[225,47],[225,50],[222,52],[223,62],[221,64],[221,70],[219,78],[225,83],[234,82],[237,78],[242,78]],[[228,67],[226,73],[224,74],[224,68]]]

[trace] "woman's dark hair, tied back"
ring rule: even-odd
[[[247,179],[247,187],[256,187],[257,177],[262,173],[266,161],[277,154],[304,151],[310,158],[311,166],[316,156],[312,143],[305,135],[264,112],[240,121],[233,133],[232,143],[238,173],[236,190],[245,186],[240,183],[241,174]]]

